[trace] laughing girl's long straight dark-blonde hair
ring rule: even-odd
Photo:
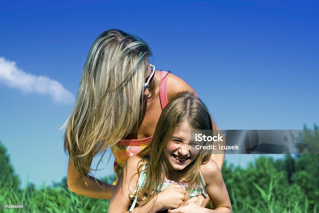
[[[137,196],[137,202],[140,205],[146,204],[156,195],[156,193],[153,193],[153,190],[162,188],[163,181],[171,168],[165,157],[167,143],[175,129],[185,121],[192,129],[211,130],[211,135],[213,135],[211,116],[204,103],[196,95],[189,92],[178,93],[162,111],[152,142],[138,154],[142,158],[141,161],[148,163],[144,171],[147,174],[145,178],[147,181],[134,194]],[[209,144],[212,143],[206,143],[206,145]],[[195,186],[200,184],[200,165],[207,162],[210,156],[210,150],[202,149],[197,158],[184,169],[185,175],[182,177],[182,180],[188,184],[185,202],[189,199],[191,192],[195,190]],[[138,175],[140,175],[142,166],[143,164],[140,164]],[[146,199],[143,199],[145,196]]]

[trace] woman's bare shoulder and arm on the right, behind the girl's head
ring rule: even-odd
[[[167,99],[168,99],[168,102],[174,97],[174,95],[176,93],[181,92],[181,91],[190,91],[190,92],[197,94],[195,92],[195,90],[191,86],[189,86],[184,80],[182,80],[178,76],[170,73],[168,76],[168,80],[167,80]],[[215,130],[217,130],[216,132],[219,134],[222,134],[219,127],[214,122],[214,120],[213,119],[211,119],[211,120],[212,120],[212,123],[214,126],[213,128]],[[214,142],[214,145],[215,146],[217,145],[217,147],[219,144],[224,146],[224,145],[226,145],[226,141]],[[217,163],[220,170],[223,168],[224,158],[225,158],[225,152],[222,152],[219,150],[214,151],[211,155],[211,159]]]

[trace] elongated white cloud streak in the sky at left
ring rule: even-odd
[[[46,76],[26,73],[16,66],[16,62],[0,57],[0,82],[9,87],[19,88],[23,93],[50,95],[55,103],[73,104],[73,94],[62,84]]]

